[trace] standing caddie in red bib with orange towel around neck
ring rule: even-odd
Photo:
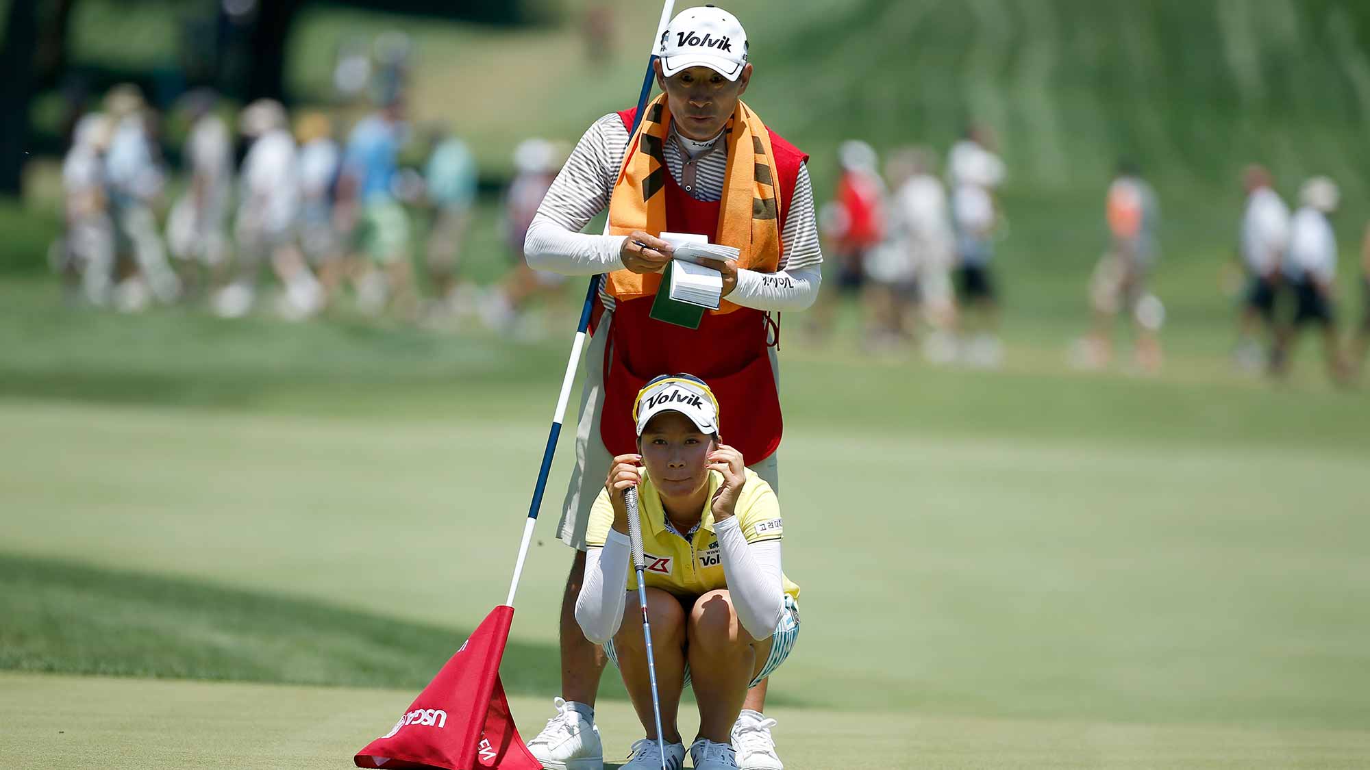
[[[532,267],[564,275],[607,273],[585,358],[575,469],[558,534],[577,549],[562,600],[562,696],[558,715],[529,748],[545,767],[600,770],[593,706],[606,658],[575,622],[585,575],[585,527],[615,455],[634,452],[632,403],[659,374],[706,378],[721,408],[736,415],[723,437],[778,492],[781,408],[775,347],[780,311],[818,296],[822,251],[801,151],[771,132],[747,104],[752,64],[747,33],[732,14],[704,5],[671,19],[658,48],[664,95],[648,104],[629,142],[636,110],[611,112],[581,137],[529,227]],[[608,207],[610,234],[580,230]],[[697,233],[740,249],[712,262],[723,301],[697,327],[653,314],[671,260],[663,232]],[[690,537],[690,534],[681,534]],[[685,569],[682,564],[681,569]],[[733,728],[741,767],[782,767],[762,717],[766,682],[747,695]]]

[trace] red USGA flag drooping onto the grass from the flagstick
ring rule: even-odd
[[[358,752],[356,766],[541,770],[518,737],[500,684],[512,622],[512,607],[486,615],[395,728]]]

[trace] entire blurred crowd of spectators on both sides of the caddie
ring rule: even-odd
[[[596,18],[588,18],[588,40],[610,34]],[[189,126],[177,174],[162,158],[166,116],[136,86],[111,89],[75,122],[63,162],[66,229],[51,263],[68,297],[127,312],[193,303],[223,318],[266,307],[295,321],[348,307],[434,327],[477,322],[541,334],[530,308],[566,301],[567,292],[563,277],[526,266],[523,234],[569,144],[527,138],[516,147],[497,214],[508,273],[478,285],[462,271],[473,218],[488,211],[475,206],[474,156],[449,126],[411,126],[407,74],[400,33],[344,45],[334,89],[370,103],[349,122],[337,111],[292,114],[274,100],[234,110],[212,90],[190,90],[169,108]],[[881,163],[860,140],[843,142],[837,155],[838,181],[819,212],[825,288],[804,330],[826,336],[852,297],[870,352],[919,349],[940,364],[1000,366],[993,263],[1011,234],[999,199],[1007,169],[991,130],[970,126],[945,155],[910,145]],[[1370,338],[1370,230],[1366,314],[1344,338],[1328,223],[1336,184],[1303,182],[1293,214],[1265,169],[1249,169],[1244,185],[1234,360],[1282,374],[1299,332],[1315,325],[1329,373],[1348,381]],[[1070,360],[1101,369],[1119,358],[1129,370],[1155,373],[1166,319],[1149,281],[1160,253],[1158,196],[1126,160],[1100,190],[1108,236],[1082,293],[1093,323]],[[1132,332],[1130,356],[1114,352],[1121,321]]]

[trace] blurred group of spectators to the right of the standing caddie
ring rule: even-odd
[[[917,343],[934,363],[997,367],[1000,289],[992,264],[996,243],[1008,237],[1008,219],[997,196],[1006,166],[989,130],[967,129],[941,171],[937,153],[926,147],[892,151],[884,174],[875,149],[860,140],[844,142],[838,156],[837,189],[819,219],[832,267],[827,301],[811,318],[814,333],[829,325],[832,300],[851,293],[862,304],[867,349]],[[1360,249],[1365,308],[1344,334],[1329,222],[1340,200],[1336,182],[1306,179],[1293,214],[1265,167],[1247,169],[1243,185],[1247,201],[1234,227],[1241,273],[1233,292],[1240,297],[1234,363],[1280,377],[1302,330],[1315,326],[1329,375],[1349,382],[1370,348],[1370,226]],[[1070,360],[1081,369],[1110,366],[1114,329],[1125,322],[1132,332],[1125,366],[1156,373],[1166,321],[1166,307],[1151,288],[1160,256],[1160,207],[1136,163],[1118,163],[1100,212],[1108,236],[1085,292],[1093,321],[1071,345]]]

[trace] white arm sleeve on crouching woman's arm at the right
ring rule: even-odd
[[[737,517],[714,525],[714,534],[723,551],[723,577],[737,619],[752,638],[769,638],[785,607],[780,540],[747,543]]]

